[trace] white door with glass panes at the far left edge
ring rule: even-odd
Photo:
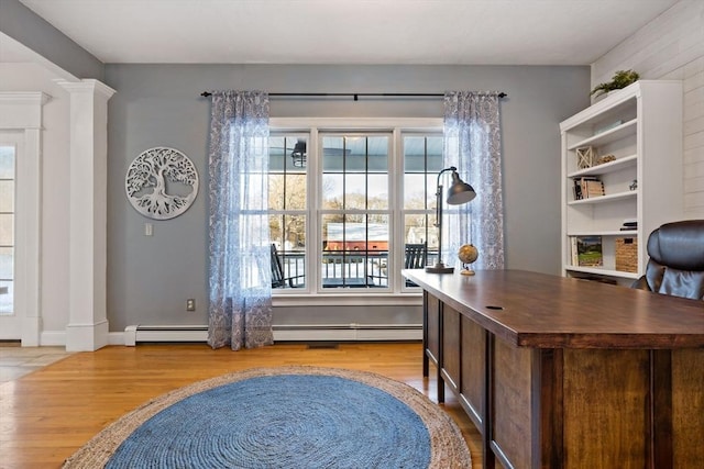
[[[0,131],[0,339],[22,338],[22,317],[14,308],[15,161],[21,134]]]

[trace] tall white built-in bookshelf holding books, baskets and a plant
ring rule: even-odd
[[[682,219],[682,83],[639,80],[561,122],[560,133],[563,275],[629,286],[645,271],[648,235]],[[595,164],[605,155],[615,159]],[[587,180],[601,181],[604,196]],[[626,221],[637,226],[620,231]],[[573,257],[574,238],[588,236],[602,238],[602,266],[579,266]],[[637,243],[636,272],[614,268],[626,237]]]

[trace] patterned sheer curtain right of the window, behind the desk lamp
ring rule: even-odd
[[[499,93],[448,91],[444,96],[444,167],[455,166],[476,191],[464,205],[450,205],[442,221],[448,253],[457,259],[461,245],[473,244],[475,269],[504,268],[504,200]]]

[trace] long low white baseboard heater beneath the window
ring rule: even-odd
[[[421,324],[295,324],[274,325],[274,340],[420,340]],[[204,325],[131,325],[124,328],[124,345],[142,342],[207,342]]]

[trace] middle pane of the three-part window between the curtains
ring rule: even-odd
[[[322,288],[388,288],[391,134],[323,134]]]

